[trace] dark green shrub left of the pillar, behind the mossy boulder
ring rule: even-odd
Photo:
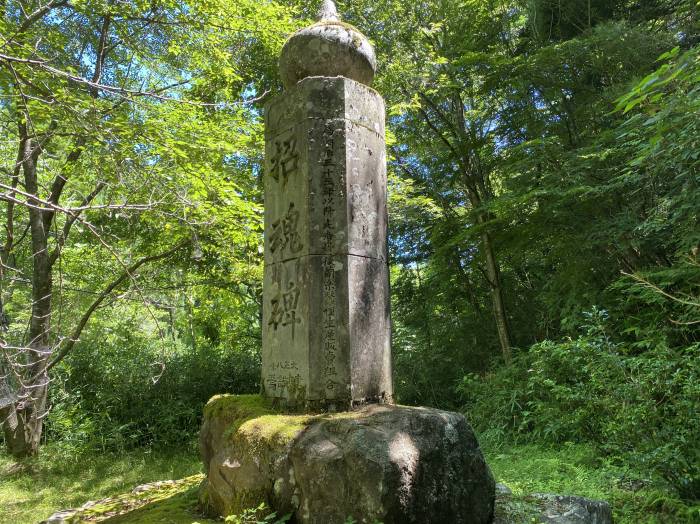
[[[49,440],[112,450],[181,445],[197,434],[213,395],[259,390],[257,352],[177,342],[163,350],[122,337],[123,344],[82,344],[59,370]]]

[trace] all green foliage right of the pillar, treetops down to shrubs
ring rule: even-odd
[[[451,407],[456,387],[487,442],[590,443],[697,498],[697,8],[476,4],[395,6],[384,42],[392,167],[440,210],[416,219],[400,193],[391,216],[399,398]],[[489,172],[485,226],[421,114],[461,125],[455,92]],[[496,356],[482,227],[520,347],[511,366]]]

